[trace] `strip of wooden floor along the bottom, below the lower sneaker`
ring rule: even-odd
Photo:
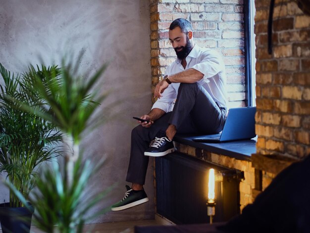
[[[139,220],[131,222],[119,222],[119,223],[102,223],[102,224],[90,224],[85,225],[85,233],[89,230],[91,233],[134,233],[135,226],[158,226],[158,225],[172,225],[165,220],[156,218],[155,220]],[[31,233],[42,233],[42,231],[31,228]],[[0,230],[0,233],[2,231]]]

